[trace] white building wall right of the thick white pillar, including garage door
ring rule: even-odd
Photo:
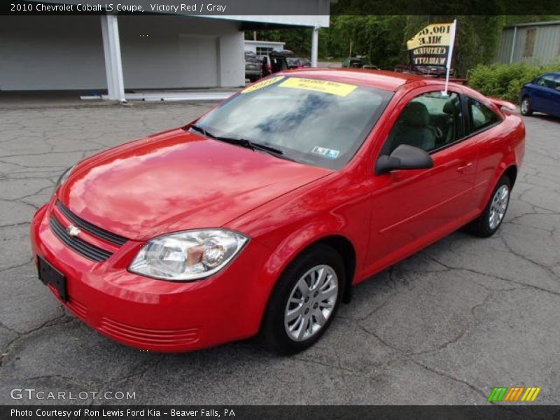
[[[125,88],[244,85],[244,36],[238,22],[173,15],[120,16],[118,21]],[[193,50],[187,53],[189,43]],[[200,62],[190,65],[197,54]],[[208,54],[216,56],[212,60]],[[211,62],[216,68],[207,65]]]

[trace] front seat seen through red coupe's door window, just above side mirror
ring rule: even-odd
[[[418,147],[424,151],[435,148],[435,133],[429,123],[430,114],[426,105],[421,102],[410,102],[389,134],[391,144],[389,153],[401,144]]]

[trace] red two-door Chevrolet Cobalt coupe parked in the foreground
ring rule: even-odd
[[[285,71],[87,158],[34,216],[39,277],[92,328],[141,349],[258,332],[282,353],[305,349],[354,284],[463,225],[487,237],[503,221],[524,125],[505,102],[443,89]]]

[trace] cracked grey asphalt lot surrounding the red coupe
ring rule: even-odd
[[[209,103],[0,107],[0,404],[486,404],[540,386],[560,404],[560,120],[525,118],[526,157],[498,234],[456,232],[360,284],[316,346],[254,340],[182,354],[112,342],[36,278],[29,221],[59,174],[187,123]],[[134,400],[13,400],[13,388]],[[82,394],[83,395],[83,394]]]

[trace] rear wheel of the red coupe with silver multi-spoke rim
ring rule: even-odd
[[[496,187],[492,191],[492,195],[484,208],[484,211],[478,218],[468,225],[468,230],[477,237],[491,237],[505,218],[505,212],[510,204],[510,195],[512,183],[507,175],[503,175]]]

